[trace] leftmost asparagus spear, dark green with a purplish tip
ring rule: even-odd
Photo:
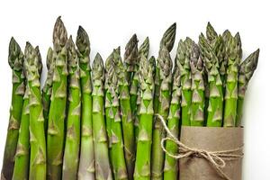
[[[14,172],[14,156],[17,148],[17,140],[23,110],[23,95],[25,90],[23,52],[14,38],[12,38],[9,43],[8,63],[13,70],[13,93],[1,173],[1,178],[7,180],[12,179]]]

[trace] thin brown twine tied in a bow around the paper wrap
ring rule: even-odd
[[[204,149],[198,149],[198,148],[189,148],[186,145],[184,145],[180,140],[175,138],[175,136],[172,134],[172,132],[168,129],[166,126],[166,121],[163,119],[163,117],[159,114],[156,114],[158,119],[162,122],[166,133],[168,137],[161,139],[161,148],[163,151],[169,156],[176,159],[180,159],[183,157],[203,157],[205,158],[210,165],[216,170],[216,172],[220,175],[220,177],[231,180],[231,178],[226,175],[221,168],[226,166],[227,160],[237,160],[238,158],[243,157],[243,146],[239,148],[233,148],[229,150],[220,150],[220,151],[208,151]],[[178,153],[177,154],[171,154],[168,152],[165,148],[165,142],[166,140],[171,140],[175,142],[178,146]]]

